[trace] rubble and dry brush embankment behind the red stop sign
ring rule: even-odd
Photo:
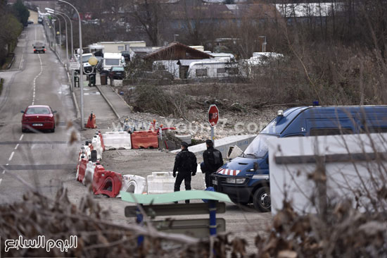
[[[210,137],[207,112],[210,104],[220,109],[215,137],[257,134],[286,106],[276,103],[269,91],[251,84],[202,83],[194,85],[138,85],[120,88],[133,106],[129,121],[153,121],[176,127],[195,140]],[[291,104],[289,104],[291,105]]]

